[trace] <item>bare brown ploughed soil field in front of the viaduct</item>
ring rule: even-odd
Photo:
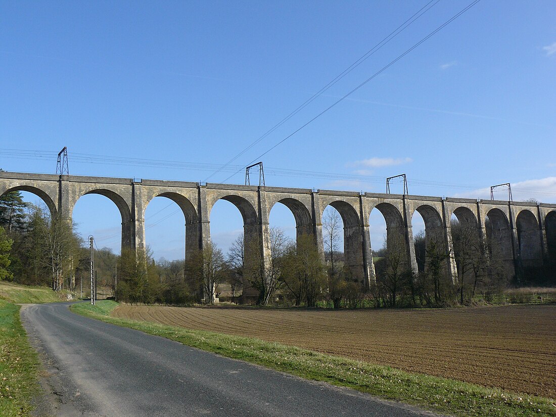
[[[121,305],[113,315],[556,398],[555,305],[341,311]]]

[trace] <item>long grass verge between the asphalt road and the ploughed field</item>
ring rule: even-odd
[[[555,416],[554,400],[424,374],[411,374],[340,356],[316,353],[248,337],[111,316],[117,303],[99,301],[96,306],[74,304],[72,311],[229,358],[266,366],[305,379],[347,386],[380,398],[402,401],[440,413],[458,416]]]

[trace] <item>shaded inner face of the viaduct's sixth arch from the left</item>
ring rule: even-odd
[[[354,277],[363,281],[365,279],[363,233],[359,214],[355,208],[346,201],[335,200],[328,205],[334,207],[334,209],[339,212],[342,223],[344,224],[344,265],[350,268]]]

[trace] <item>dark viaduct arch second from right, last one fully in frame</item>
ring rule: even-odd
[[[530,210],[524,209],[517,215],[515,226],[518,231],[519,260],[522,266],[540,266],[543,249],[537,217]]]

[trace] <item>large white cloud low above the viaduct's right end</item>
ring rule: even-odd
[[[459,193],[456,197],[490,200],[490,187]],[[507,188],[497,188],[494,192],[494,198],[497,200],[508,200]],[[524,201],[529,198],[535,198],[535,200],[543,203],[556,203],[556,177],[513,182],[512,198],[514,201]]]

